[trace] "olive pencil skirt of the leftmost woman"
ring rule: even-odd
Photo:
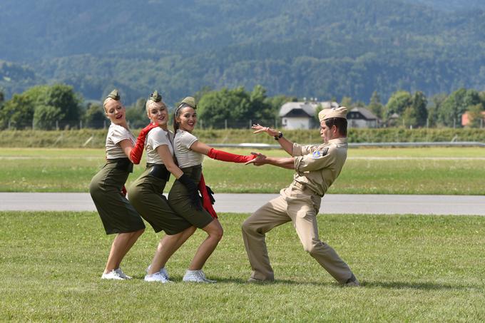
[[[107,235],[135,232],[145,228],[145,224],[133,205],[121,194],[121,189],[133,169],[128,158],[108,160],[94,175],[89,185],[89,193],[98,210]]]

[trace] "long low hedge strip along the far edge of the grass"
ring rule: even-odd
[[[133,130],[135,135],[138,130]],[[106,129],[93,130],[3,130],[0,131],[0,147],[16,148],[103,148]],[[318,130],[284,130],[285,137],[297,143],[320,143]],[[249,129],[195,130],[194,134],[204,143],[270,143],[272,137],[252,134]],[[471,128],[379,128],[349,129],[349,143],[386,142],[485,142],[485,129]]]

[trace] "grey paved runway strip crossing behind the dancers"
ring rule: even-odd
[[[216,194],[217,212],[254,212],[277,194]],[[88,193],[0,193],[0,211],[94,211]],[[325,195],[321,213],[485,215],[485,196]]]

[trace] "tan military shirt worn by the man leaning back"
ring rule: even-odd
[[[340,174],[347,159],[347,138],[329,140],[321,145],[293,144],[294,182],[323,196]]]

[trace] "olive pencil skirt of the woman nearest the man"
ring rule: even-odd
[[[202,165],[196,165],[188,168],[180,168],[185,175],[194,181],[195,185],[200,182],[202,174]],[[202,229],[214,219],[206,210],[196,210],[190,204],[190,197],[185,186],[178,180],[173,183],[170,193],[168,193],[168,204],[179,215],[192,223],[195,227]]]

